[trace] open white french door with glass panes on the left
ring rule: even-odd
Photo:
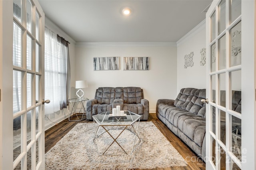
[[[2,1],[1,10],[1,168],[44,169],[44,12],[37,0]]]

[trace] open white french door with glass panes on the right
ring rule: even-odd
[[[206,169],[255,169],[254,3],[214,0],[206,14]]]

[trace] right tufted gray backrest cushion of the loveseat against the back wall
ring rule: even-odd
[[[138,104],[143,98],[142,89],[139,87],[124,87],[124,103]]]

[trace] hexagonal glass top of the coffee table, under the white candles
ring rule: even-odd
[[[140,119],[141,115],[125,110],[123,116],[112,117],[112,111],[105,111],[92,116],[98,125],[132,125]]]

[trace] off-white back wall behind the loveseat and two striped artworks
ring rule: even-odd
[[[85,97],[92,99],[99,87],[137,86],[149,100],[150,113],[156,101],[176,98],[176,47],[76,47],[76,80],[87,80]],[[93,70],[93,57],[120,57],[119,70]],[[123,57],[150,57],[149,70],[123,70]],[[73,86],[74,90],[74,86]]]

